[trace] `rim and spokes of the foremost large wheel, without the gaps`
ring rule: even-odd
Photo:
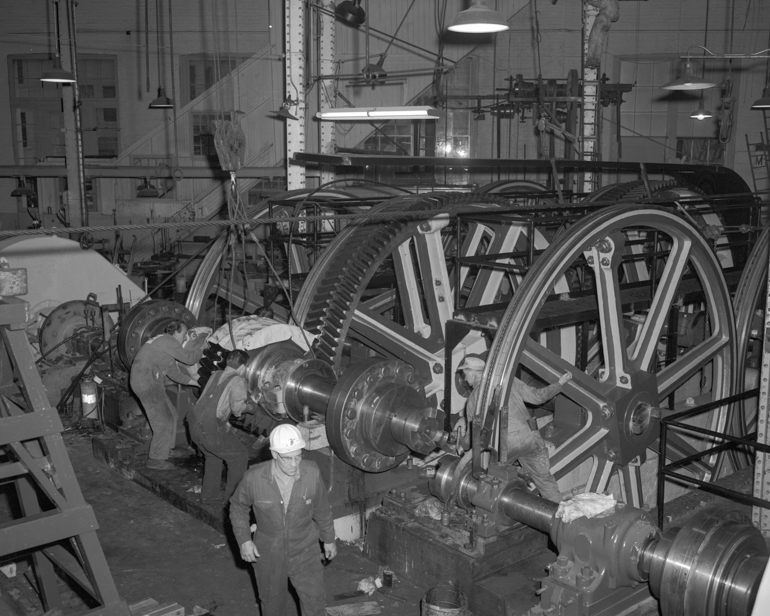
[[[620,258],[616,253],[623,253],[628,233],[640,230],[664,234],[672,250],[657,281],[644,325],[638,329],[629,353],[624,342],[626,331],[618,290]],[[600,265],[601,259],[607,256],[597,247],[602,242],[609,242],[612,248],[609,267]],[[589,255],[596,264],[592,268],[596,280],[594,299],[596,305],[602,307],[598,324],[605,379],[577,370],[531,339],[555,282],[567,268]],[[685,271],[696,275],[695,284],[711,315],[710,335],[669,365],[652,372],[668,311],[683,283]],[[560,396],[567,402],[566,408],[560,412],[557,406],[546,434],[556,445],[551,455],[554,474],[557,478],[564,477],[590,462],[586,490],[602,492],[618,471],[624,499],[641,506],[644,497],[639,463],[645,460],[647,447],[657,438],[658,421],[648,417],[641,432],[636,433],[631,428],[640,420],[640,409],[645,405],[665,406],[669,395],[686,393],[691,381],[706,370],[713,375],[710,391],[702,392],[698,402],[704,402],[703,397],[711,401],[730,395],[736,349],[735,322],[727,286],[719,262],[701,234],[672,212],[660,208],[614,206],[572,227],[530,270],[506,310],[490,349],[479,408],[489,406],[498,387],[502,392],[500,399],[507,400],[513,383],[511,375],[519,365],[547,382],[554,382],[566,370],[573,371],[575,378]],[[621,384],[621,379],[626,379],[627,384]],[[717,409],[708,418],[708,427],[717,431],[724,429],[724,423],[724,409]],[[675,458],[697,451],[686,439],[673,439],[670,443],[674,445],[670,451]],[[709,458],[693,472],[708,478],[714,471],[714,462]]]

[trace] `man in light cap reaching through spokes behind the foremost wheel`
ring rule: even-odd
[[[473,389],[465,403],[465,418],[460,418],[455,425],[457,441],[462,449],[470,449],[468,423],[476,416],[479,399],[479,383],[486,362],[479,357],[466,357],[458,367],[462,370],[465,382]],[[530,475],[532,483],[540,496],[555,503],[561,502],[561,492],[556,478],[551,474],[548,449],[537,429],[535,420],[530,416],[525,402],[540,406],[558,394],[564,384],[572,379],[571,372],[565,372],[558,382],[546,387],[532,387],[520,379],[513,378],[513,387],[508,397],[508,459],[518,458],[522,469]]]

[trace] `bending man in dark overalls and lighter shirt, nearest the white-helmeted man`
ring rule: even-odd
[[[233,495],[249,465],[249,450],[228,422],[230,415],[240,417],[256,407],[249,400],[245,378],[248,360],[246,351],[230,351],[225,359],[225,369],[211,375],[188,417],[190,436],[205,458],[201,487],[203,503],[222,501],[219,487],[223,462],[227,464],[225,499]]]

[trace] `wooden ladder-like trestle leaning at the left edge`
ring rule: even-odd
[[[55,565],[99,606],[88,614],[129,616],[35,367],[24,329],[28,313],[27,302],[0,297],[0,483],[14,484],[21,512],[0,524],[0,558],[31,555],[46,611],[62,607]]]

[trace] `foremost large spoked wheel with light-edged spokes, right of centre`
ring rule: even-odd
[[[640,237],[656,238],[656,243],[648,242],[639,256],[629,254],[627,245]],[[657,261],[648,268],[655,279],[621,287],[622,268],[635,258]],[[583,297],[548,301],[558,297],[557,281],[569,268],[583,272],[588,281]],[[708,314],[703,340],[666,363],[661,349],[672,307],[695,302],[703,302]],[[578,369],[545,345],[544,333],[578,319],[598,328],[598,365]],[[673,212],[614,206],[574,225],[525,277],[490,348],[479,408],[489,407],[496,388],[500,399],[507,400],[519,368],[546,382],[571,371],[574,378],[557,399],[553,422],[543,429],[555,446],[552,472],[564,478],[562,489],[582,482],[591,492],[607,490],[617,473],[623,499],[642,506],[655,486],[652,465],[645,464],[647,450],[658,438],[654,409],[665,413],[730,395],[736,356],[730,296],[708,242]],[[726,409],[718,408],[693,423],[721,431],[725,417]],[[708,440],[674,436],[668,453],[682,459],[710,445]],[[709,457],[685,468],[709,478],[714,463]],[[579,476],[586,468],[587,478]]]

